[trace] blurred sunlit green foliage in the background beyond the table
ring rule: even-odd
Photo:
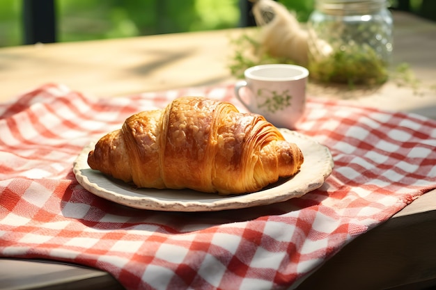
[[[38,0],[35,0],[38,1]],[[240,26],[244,0],[56,0],[59,42]],[[248,1],[248,0],[247,0]],[[315,0],[279,0],[304,22]],[[396,5],[398,0],[390,0]],[[417,9],[422,0],[411,0]],[[22,1],[0,1],[0,47],[22,45]]]

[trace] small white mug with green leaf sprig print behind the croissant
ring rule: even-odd
[[[299,65],[256,65],[245,70],[244,76],[235,84],[240,102],[275,127],[295,129],[306,108],[309,70]]]

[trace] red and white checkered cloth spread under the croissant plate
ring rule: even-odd
[[[0,257],[108,271],[126,289],[286,289],[343,246],[436,187],[436,121],[309,99],[297,130],[329,147],[316,191],[250,209],[132,209],[89,193],[72,162],[132,113],[233,86],[95,100],[58,84],[0,104]]]

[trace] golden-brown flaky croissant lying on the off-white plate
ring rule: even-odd
[[[139,188],[251,193],[295,175],[304,161],[261,115],[228,102],[180,97],[127,118],[88,154],[88,165]]]

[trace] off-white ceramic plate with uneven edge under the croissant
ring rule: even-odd
[[[73,171],[81,186],[91,193],[137,209],[159,211],[221,211],[283,202],[299,198],[322,186],[334,166],[327,147],[295,131],[280,129],[286,140],[296,143],[304,154],[304,163],[293,177],[281,179],[255,193],[220,196],[190,189],[135,188],[112,179],[88,166],[88,152],[95,143],[84,147],[75,160]]]

